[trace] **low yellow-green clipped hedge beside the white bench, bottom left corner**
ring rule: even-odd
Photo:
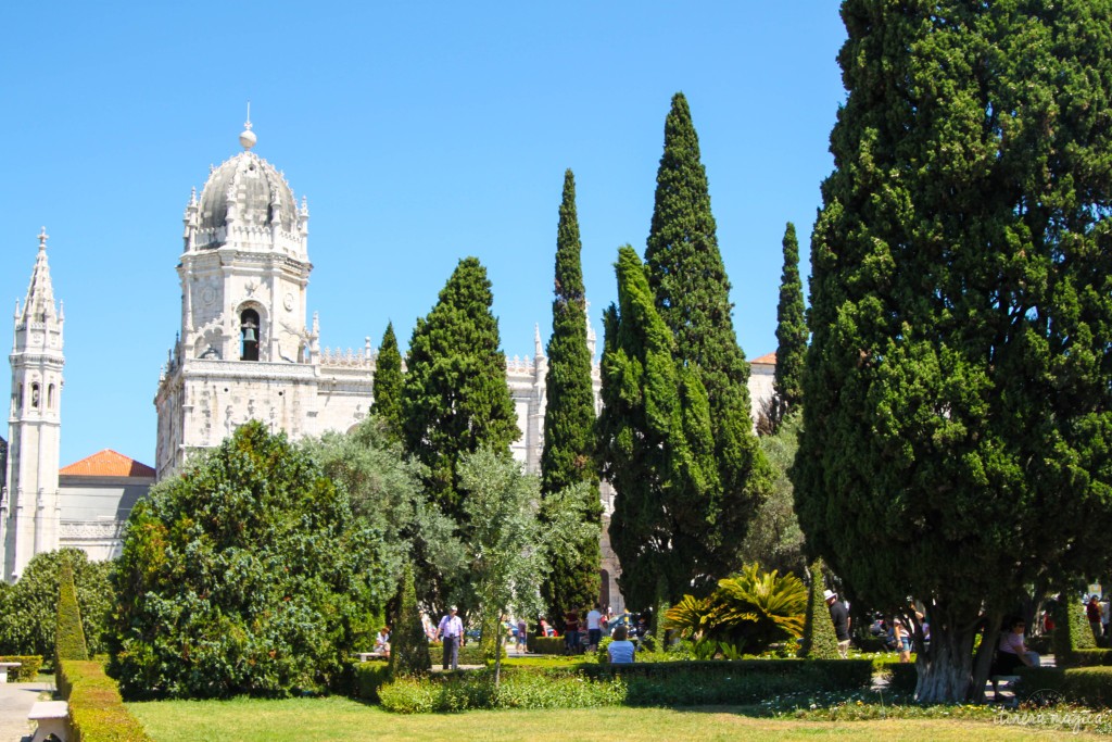
[[[128,713],[116,681],[105,674],[101,663],[60,661],[58,690],[69,701],[73,742],[153,742]]]

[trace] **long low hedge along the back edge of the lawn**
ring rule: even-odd
[[[798,692],[868,687],[868,660],[741,660],[575,663],[506,667],[496,693],[490,672],[399,679],[379,689],[383,708],[397,713],[467,709],[574,709],[599,705],[693,706],[756,703]]]

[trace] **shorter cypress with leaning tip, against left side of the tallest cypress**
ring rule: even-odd
[[[718,472],[706,390],[695,364],[674,356],[672,332],[632,247],[618,250],[618,304],[606,310],[603,475],[614,485],[610,544],[626,603],[675,603],[714,585],[722,550],[736,551],[714,494]]]

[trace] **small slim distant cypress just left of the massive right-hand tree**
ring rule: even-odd
[[[780,303],[776,305],[776,395],[772,416],[776,428],[803,398],[803,359],[807,352],[800,243],[795,238],[795,225],[791,221],[784,229],[783,244],[784,269],[780,277]]]

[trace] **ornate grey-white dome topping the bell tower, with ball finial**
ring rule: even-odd
[[[186,251],[234,246],[306,259],[308,206],[298,208],[282,174],[251,151],[257,138],[246,126],[244,151],[212,168],[200,200],[195,191],[186,206]]]

